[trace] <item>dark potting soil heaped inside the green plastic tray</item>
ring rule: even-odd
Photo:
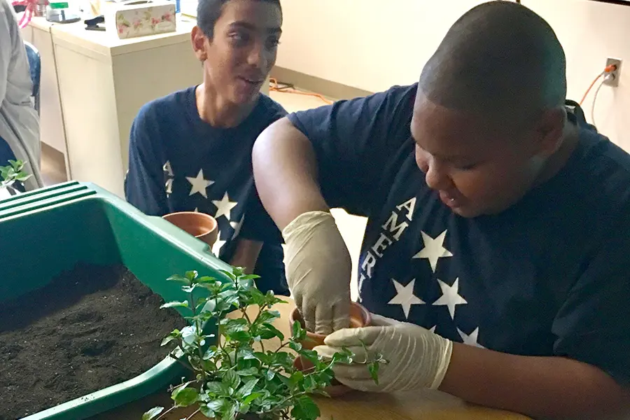
[[[160,309],[127,268],[79,264],[48,286],[0,302],[0,420],[54,407],[145,372],[186,321]]]

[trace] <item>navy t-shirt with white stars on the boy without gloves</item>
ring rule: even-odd
[[[214,216],[219,237],[213,247],[230,261],[237,238],[264,244],[255,274],[261,290],[287,294],[281,235],[258,200],[251,149],[258,134],[286,115],[260,94],[251,114],[237,127],[216,128],[201,120],[195,87],[142,107],[129,144],[127,201],[151,216],[201,211]]]

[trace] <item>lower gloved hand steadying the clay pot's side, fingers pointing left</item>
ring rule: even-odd
[[[425,328],[384,316],[373,315],[372,325],[345,328],[325,338],[325,346],[315,351],[332,357],[342,347],[356,356],[351,365],[336,365],[335,379],[359,391],[393,392],[420,388],[437,389],[442,384],[453,351],[453,342]],[[361,342],[367,347],[367,355]],[[375,384],[365,365],[380,353],[387,364],[379,366],[379,384]],[[363,364],[362,364],[363,363]]]

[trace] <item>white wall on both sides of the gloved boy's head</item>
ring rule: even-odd
[[[277,65],[368,91],[414,83],[450,25],[479,0],[283,0]],[[590,0],[522,0],[554,27],[579,101],[606,57],[624,59],[602,88],[598,128],[630,151],[630,7]],[[590,100],[584,105],[590,115]]]

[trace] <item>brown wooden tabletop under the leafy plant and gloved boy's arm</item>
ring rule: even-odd
[[[290,335],[288,314],[294,304],[277,304],[276,309],[281,318],[276,320],[274,326],[285,335]],[[255,310],[255,308],[253,308]],[[276,340],[277,341],[277,340]],[[265,344],[266,349],[273,350],[274,341]],[[526,420],[528,417],[496,409],[488,409],[470,405],[462,400],[439,391],[413,391],[405,393],[361,393],[352,392],[339,398],[315,398],[321,409],[321,419],[335,420]],[[170,407],[169,395],[165,391],[158,395],[151,395],[143,400],[136,401],[113,412],[102,414],[95,420],[140,420],[146,410],[162,405]],[[193,410],[175,410],[167,420],[179,420],[186,418]],[[203,420],[204,416],[198,415],[193,420]]]

